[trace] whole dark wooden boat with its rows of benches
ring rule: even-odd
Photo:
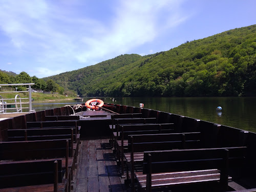
[[[50,171],[38,169],[38,173],[27,175],[42,182],[30,177],[31,182],[26,184],[28,180],[22,178],[27,175],[17,173],[18,164],[24,163],[23,167],[31,171],[38,161],[43,160],[26,156],[21,145],[15,145],[16,154],[11,154],[12,150],[4,146],[25,143],[24,147],[27,147],[33,143],[29,145],[31,147],[52,140],[62,142],[60,136],[53,139],[45,135],[32,141],[29,138],[35,136],[29,135],[29,131],[50,130],[57,127],[57,123],[61,127],[72,126],[69,123],[74,122],[74,140],[64,139],[66,161],[57,157],[43,158],[51,166],[39,165],[55,167],[50,174],[51,177],[54,175],[54,181],[48,181]],[[143,131],[137,130],[139,134],[136,134],[134,129],[139,126],[144,127]],[[125,129],[130,129],[132,135]],[[26,130],[19,136],[25,141],[11,141],[14,130]],[[90,110],[84,103],[77,103],[2,120],[0,131],[0,192],[151,191],[152,188],[156,191],[256,191],[256,133],[222,124],[136,106],[104,103],[102,107]],[[124,137],[128,139],[122,139]],[[170,141],[171,137],[178,139]],[[152,138],[151,142],[142,141]],[[148,143],[154,143],[152,148]],[[141,147],[146,151],[139,152]],[[47,151],[46,148],[40,150],[40,155]],[[71,151],[75,151],[73,155],[69,154]],[[136,154],[142,155],[138,164]],[[69,158],[73,158],[70,165]],[[31,162],[33,166],[27,167]],[[3,169],[5,166],[7,168]],[[39,172],[44,172],[42,175],[45,176],[39,176]]]

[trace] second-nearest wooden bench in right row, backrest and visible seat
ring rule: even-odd
[[[134,172],[132,167],[135,164],[142,165],[144,151],[199,148],[201,146],[200,138],[200,132],[129,135],[127,143],[129,153],[122,153],[122,169],[124,167],[123,158],[126,162],[126,180],[129,179],[129,169]]]

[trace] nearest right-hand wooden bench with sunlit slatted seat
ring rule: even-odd
[[[186,190],[191,191],[196,187],[196,191],[226,191],[229,162],[243,160],[245,150],[223,147],[144,152],[143,172],[135,173],[135,178],[139,190],[188,187]]]

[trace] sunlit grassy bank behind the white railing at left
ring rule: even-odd
[[[1,96],[4,99],[15,98],[16,95],[19,95],[21,98],[28,98],[29,94],[26,93],[1,93]],[[75,97],[66,97],[65,95],[60,94],[44,94],[44,93],[35,93],[32,92],[31,98],[34,101],[52,101],[52,100],[64,100],[64,99],[74,99]],[[7,100],[6,100],[7,101]],[[28,102],[28,99],[23,99],[23,102]],[[8,100],[8,103],[14,103],[14,100]]]

